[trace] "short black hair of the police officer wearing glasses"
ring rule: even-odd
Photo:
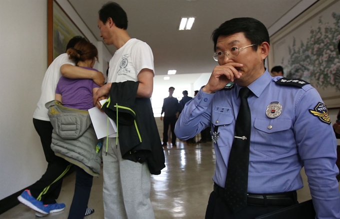
[[[254,51],[257,50],[257,45],[262,42],[269,44],[268,30],[263,23],[251,17],[237,17],[225,21],[212,32],[213,50],[216,51],[219,36],[228,36],[239,32],[242,32],[251,44],[255,44],[252,46]]]

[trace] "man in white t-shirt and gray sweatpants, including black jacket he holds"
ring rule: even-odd
[[[114,118],[117,122],[118,137],[105,138],[102,150],[104,218],[154,219],[150,201],[150,173],[160,174],[160,170],[165,167],[165,158],[150,101],[154,76],[153,54],[145,42],[128,35],[126,12],[115,2],[107,2],[100,8],[98,28],[104,43],[117,49],[109,62],[107,83],[93,96],[93,102],[99,109],[101,108],[99,100],[107,98],[107,95],[110,95],[110,107],[115,108],[114,105],[117,107]],[[135,106],[134,111],[123,107],[135,113],[135,126],[133,122],[131,123],[133,126],[119,124],[119,119],[123,119],[119,112],[122,113],[123,110],[122,108],[118,110],[120,106],[116,101],[118,98],[124,101],[126,100],[124,98],[128,98],[125,103],[131,102],[131,105]],[[137,104],[141,102],[142,106]],[[107,105],[104,106],[110,109]],[[143,119],[141,117],[147,118],[148,121],[138,124],[139,119]],[[154,131],[150,131],[150,127],[154,127]],[[131,133],[137,132],[136,130],[139,132],[132,136],[123,129],[128,129]],[[148,138],[143,136],[146,131],[149,131]],[[139,137],[138,140],[134,141],[134,136]],[[157,140],[151,140],[155,138]],[[152,149],[160,152],[157,154],[160,161],[159,173],[153,173],[149,160],[136,157],[138,151],[134,149],[134,144],[129,144],[130,140],[134,143],[140,141],[137,146],[143,148],[154,146]],[[123,152],[125,150],[126,153]],[[146,150],[144,152],[146,153]]]

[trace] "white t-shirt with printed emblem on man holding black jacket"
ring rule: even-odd
[[[129,39],[115,51],[109,62],[107,82],[137,81],[143,68],[153,71],[153,54],[149,45],[139,39]]]

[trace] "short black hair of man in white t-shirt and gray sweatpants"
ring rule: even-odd
[[[127,15],[124,9],[116,2],[109,1],[102,5],[99,13],[99,19],[104,24],[111,17],[115,26],[120,29],[127,29]]]

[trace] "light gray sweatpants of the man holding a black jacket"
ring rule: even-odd
[[[147,163],[121,158],[116,138],[102,148],[103,202],[105,219],[154,219],[150,202],[150,172]]]

